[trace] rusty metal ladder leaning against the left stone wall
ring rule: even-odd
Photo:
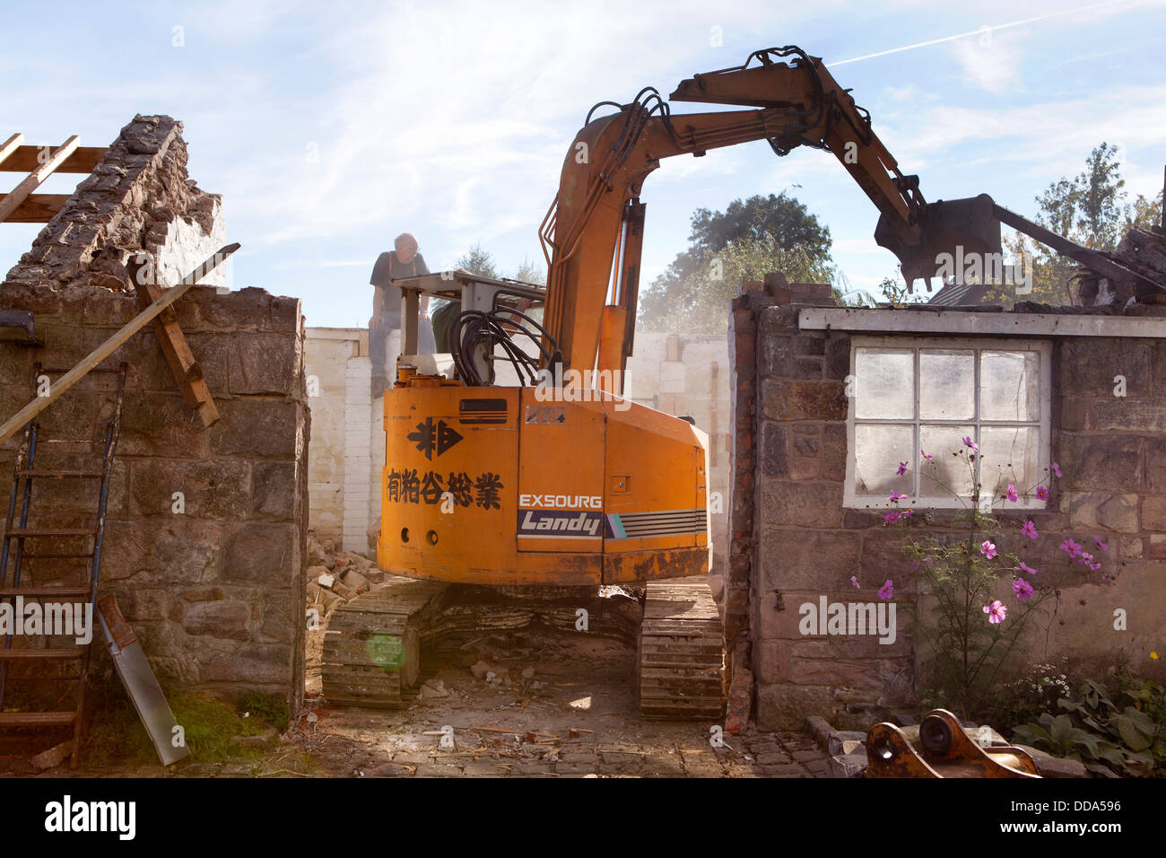
[[[82,606],[80,600],[87,601],[91,606],[92,616],[90,632],[93,637],[100,634],[100,623],[97,615],[97,586],[101,568],[101,545],[105,536],[105,509],[110,493],[110,473],[113,467],[113,455],[118,446],[118,434],[121,427],[121,399],[126,382],[125,362],[118,369],[90,370],[86,378],[94,378],[105,375],[114,376],[113,391],[113,416],[105,426],[104,439],[43,439],[40,437],[41,427],[38,421],[33,420],[24,427],[24,438],[16,453],[13,468],[12,496],[8,500],[8,516],[5,521],[2,542],[0,542],[0,609],[5,604],[12,605],[13,619],[21,622],[22,618],[16,615],[16,598],[21,597],[24,605],[35,601],[43,605],[44,600],[59,600],[73,605],[73,608]],[[64,370],[44,369],[40,363],[34,365],[33,388],[34,396],[37,393],[40,382],[52,374]],[[58,376],[59,377],[59,376]],[[79,452],[77,452],[79,448]],[[70,459],[91,458],[96,459],[100,454],[100,468],[72,468],[61,467],[55,463],[57,456]],[[48,459],[49,461],[44,461]],[[76,480],[100,480],[100,494],[97,507],[97,517],[89,526],[59,528],[59,526],[36,526],[29,523],[29,512],[33,504],[33,482],[48,480],[50,486],[59,487]],[[17,510],[17,498],[20,500]],[[56,517],[62,514],[55,512]],[[92,547],[82,550],[72,547],[78,540],[92,540]],[[34,540],[26,551],[26,542]],[[35,546],[44,545],[41,550]],[[63,546],[62,546],[63,545]],[[63,578],[76,578],[76,581],[62,584],[54,580],[51,584],[40,585],[36,580],[30,580],[30,574],[35,560],[49,560],[51,563],[66,561],[66,565],[77,564],[80,568],[70,568]],[[43,612],[43,608],[42,608]],[[47,635],[45,635],[47,637]],[[3,636],[2,648],[0,648],[0,727],[65,727],[73,730],[72,751],[70,754],[70,768],[77,767],[77,756],[80,751],[82,738],[82,713],[85,706],[85,675],[89,671],[92,639],[86,644],[73,644],[69,647],[13,647],[14,635],[12,633]],[[49,664],[76,664],[76,672],[62,671],[61,675],[51,676],[12,676],[9,677],[9,664],[33,663],[48,667]],[[50,674],[51,671],[45,671]],[[66,688],[56,703],[54,711],[44,712],[6,712],[5,695],[8,690],[8,682],[28,679],[37,682],[61,682],[75,683],[75,705],[72,709],[62,709],[59,705],[69,697]]]

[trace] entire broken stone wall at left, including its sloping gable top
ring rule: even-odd
[[[152,253],[167,284],[226,243],[220,198],[187,177],[181,131],[169,117],[135,117],[0,285],[0,311],[33,312],[43,341],[0,344],[0,413],[29,400],[35,362],[57,369],[56,378],[138,314],[129,253]],[[117,594],[163,682],[267,691],[295,710],[310,433],[300,301],[229,292],[222,268],[203,282],[174,311],[218,407],[216,425],[204,428],[187,407],[153,327],[103,364],[125,361],[128,374],[99,592]],[[111,414],[112,379],[91,374],[42,412],[42,438],[100,438]],[[12,467],[19,440],[0,445],[0,468]],[[77,456],[70,467],[98,462]],[[35,488],[33,523],[92,521],[96,481],[48,482]],[[24,580],[64,572],[34,561]],[[105,657],[100,633],[93,651]]]

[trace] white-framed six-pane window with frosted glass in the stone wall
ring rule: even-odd
[[[1012,483],[1016,508],[1044,509],[1051,354],[1040,341],[854,336],[845,505],[881,508],[895,491],[899,508],[963,507],[953,494],[970,498],[978,480],[982,502]],[[974,472],[951,455],[964,438],[979,445]]]

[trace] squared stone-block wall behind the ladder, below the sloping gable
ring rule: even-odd
[[[101,364],[125,361],[128,374],[100,592],[117,594],[163,679],[265,690],[298,705],[309,437],[300,302],[262,290],[220,295],[195,287],[176,307],[222,419],[204,428],[185,406],[150,327]],[[70,368],[138,313],[133,297],[100,287],[14,284],[0,290],[0,309],[34,312],[44,341],[0,347],[5,414],[29,400],[34,362]],[[111,384],[86,376],[42,412],[41,437],[103,437]],[[19,440],[3,445],[0,467],[10,469]],[[83,526],[96,502],[96,487],[78,494],[75,484],[42,481],[31,521]],[[47,583],[63,570],[31,561],[29,573]],[[104,653],[96,641],[94,655]]]

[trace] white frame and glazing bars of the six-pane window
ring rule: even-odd
[[[912,353],[914,356],[914,393],[915,393],[915,409],[913,419],[862,419],[858,420],[861,424],[865,425],[878,425],[878,424],[892,424],[892,425],[905,425],[913,424],[914,426],[914,454],[913,454],[913,467],[915,472],[914,476],[914,488],[916,493],[921,490],[921,476],[920,467],[918,462],[921,461],[919,455],[919,427],[920,424],[925,425],[972,425],[976,428],[976,434],[978,437],[979,428],[982,426],[1016,426],[1016,425],[1031,425],[1038,427],[1038,441],[1037,441],[1037,474],[1038,479],[1042,479],[1044,475],[1048,473],[1049,462],[1052,461],[1052,416],[1053,416],[1053,343],[1049,340],[1038,340],[1038,339],[998,339],[998,337],[948,337],[948,336],[869,336],[869,335],[852,335],[850,337],[850,379],[856,384],[862,384],[862,379],[858,378],[856,371],[856,356],[861,348],[899,348],[899,349],[914,349]],[[972,381],[972,390],[975,396],[975,412],[970,419],[964,420],[940,420],[940,419],[927,419],[921,420],[919,417],[919,350],[920,349],[964,349],[974,350],[976,353],[975,360],[975,379]],[[984,350],[1021,350],[1021,351],[1035,351],[1039,354],[1039,367],[1040,377],[1037,382],[1037,391],[1039,398],[1039,419],[1037,421],[1030,420],[982,420],[979,417],[979,353]],[[857,458],[857,451],[855,448],[855,398],[851,398],[849,407],[847,409],[847,483],[843,487],[843,500],[842,505],[847,509],[883,509],[884,507],[888,509],[968,509],[971,507],[970,497],[955,497],[950,494],[947,495],[922,495],[914,494],[900,502],[898,507],[888,507],[885,495],[858,495],[855,493],[855,463]],[[944,454],[949,451],[942,451]],[[979,475],[978,463],[976,469],[977,476]],[[993,498],[992,505],[997,509],[1003,509],[1004,511],[1010,510],[1041,510],[1046,509],[1048,505],[1047,501],[1038,500],[1037,497],[1020,497],[1016,503],[1005,503],[1003,507],[997,502],[999,498]],[[914,503],[913,503],[914,502]],[[983,503],[983,498],[981,498]]]

